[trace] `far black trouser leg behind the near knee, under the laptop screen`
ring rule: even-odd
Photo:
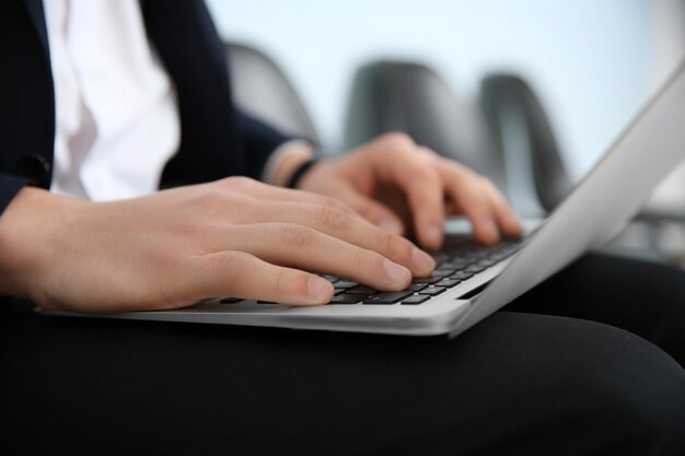
[[[685,365],[685,272],[666,265],[590,254],[506,309],[623,328]]]

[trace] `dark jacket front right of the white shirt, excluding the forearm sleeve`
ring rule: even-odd
[[[148,37],[176,87],[181,148],[162,186],[243,174],[225,49],[201,0],[141,0]],[[231,153],[233,151],[233,153]]]

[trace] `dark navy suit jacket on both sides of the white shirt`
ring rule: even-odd
[[[161,187],[257,177],[288,138],[233,106],[225,50],[201,0],[141,0],[176,87],[181,147]],[[55,94],[40,0],[0,2],[0,214],[26,184],[49,188]]]

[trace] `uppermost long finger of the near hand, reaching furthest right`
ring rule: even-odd
[[[262,202],[246,207],[239,223],[292,223],[314,229],[349,244],[376,252],[408,268],[414,276],[428,276],[434,260],[408,239],[339,209],[299,202]],[[216,249],[225,249],[220,233],[214,236]]]

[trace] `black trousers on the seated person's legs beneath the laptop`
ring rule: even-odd
[[[454,340],[14,313],[0,453],[682,456],[684,364],[685,273],[596,254]]]

